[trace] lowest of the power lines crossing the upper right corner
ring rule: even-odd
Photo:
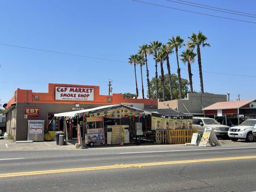
[[[211,14],[202,13],[202,12],[193,12],[193,11],[178,9],[178,8],[169,7],[169,6],[165,6],[165,5],[159,5],[159,4],[155,4],[155,3],[149,3],[149,2],[140,1],[140,0],[132,0],[132,1],[136,1],[136,2],[139,2],[139,3],[144,3],[144,4],[148,4],[148,5],[154,5],[154,6],[158,6],[158,7],[164,7],[164,8],[173,9],[173,10],[178,10],[178,11],[183,11],[183,12],[191,12],[191,13],[200,14],[200,15],[207,15],[207,16],[211,16],[211,17],[217,17],[217,18],[229,19],[229,20],[233,20],[233,21],[240,21],[240,22],[245,22],[245,23],[256,24],[256,22],[245,21],[245,20],[240,20],[240,19],[233,19],[233,18],[230,18],[230,17],[221,17],[221,16],[211,15]]]

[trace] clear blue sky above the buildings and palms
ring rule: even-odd
[[[166,0],[145,1],[256,22],[256,18],[213,12]],[[256,1],[253,0],[190,1],[256,14]],[[256,24],[180,12],[131,0],[1,0],[0,4],[0,43],[127,61],[139,45],[153,40],[166,43],[172,35],[180,35],[187,41],[192,32],[201,30],[211,44],[210,48],[201,49],[203,71],[256,75]],[[113,79],[113,93],[135,92],[134,68],[122,62],[0,45],[0,64],[2,102],[8,101],[16,88],[47,92],[48,83],[99,85],[100,94],[108,94],[108,79]],[[149,65],[152,65],[149,67],[152,78],[152,59]],[[171,66],[176,68],[174,55],[171,55]],[[182,63],[181,67],[186,69]],[[198,69],[197,62],[192,69]],[[176,70],[172,69],[172,72]],[[194,89],[199,91],[198,72],[193,74]],[[146,69],[143,75],[146,86]],[[256,77],[207,72],[203,75],[206,92],[230,92],[232,100],[238,94],[241,99],[256,98]],[[188,77],[187,71],[182,70],[182,77]]]

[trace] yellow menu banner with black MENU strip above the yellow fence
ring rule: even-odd
[[[167,116],[152,113],[152,130],[192,129],[192,116]]]

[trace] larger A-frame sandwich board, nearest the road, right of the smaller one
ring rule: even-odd
[[[207,143],[221,146],[211,127],[205,128],[204,134],[198,146],[206,147]]]

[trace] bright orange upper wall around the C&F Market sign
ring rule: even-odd
[[[94,101],[57,101],[55,100],[55,86],[68,86],[68,87],[87,87],[94,88]],[[123,98],[123,94],[113,94],[112,96],[99,95],[99,86],[91,85],[77,85],[77,84],[49,84],[48,93],[34,93],[32,90],[17,89],[16,103],[83,103],[83,104],[121,104],[121,103],[143,103],[144,105],[158,105],[157,99],[128,99]],[[38,96],[39,100],[35,100],[34,96]],[[107,100],[111,99],[111,102]],[[6,108],[15,103],[14,96],[8,102]]]

